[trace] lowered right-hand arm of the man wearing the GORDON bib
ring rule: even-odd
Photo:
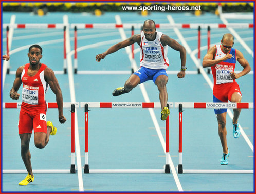
[[[63,98],[60,85],[57,78],[54,75],[54,72],[50,68],[45,68],[44,78],[47,83],[49,83],[52,92],[56,95],[56,102],[59,110],[59,121],[60,123],[66,122],[66,118],[63,116]]]

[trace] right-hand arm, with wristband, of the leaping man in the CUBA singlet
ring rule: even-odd
[[[171,47],[172,49],[179,51],[179,55],[180,55],[180,60],[181,60],[181,67],[185,67],[186,66],[186,49],[185,47],[183,47],[182,45],[180,45],[176,40],[170,38],[169,36],[163,34],[161,36],[161,44],[163,46],[168,45],[169,47]],[[177,76],[178,78],[184,78],[185,77],[185,70],[181,70]]]

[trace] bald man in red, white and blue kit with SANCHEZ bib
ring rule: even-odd
[[[243,54],[233,49],[234,37],[232,34],[224,34],[221,40],[221,45],[211,47],[203,59],[203,67],[211,67],[214,80],[213,86],[213,102],[241,102],[242,94],[239,85],[235,79],[246,75],[251,68]],[[240,73],[234,73],[235,63],[238,61],[244,68]],[[218,135],[220,136],[223,156],[221,159],[222,165],[228,164],[229,150],[227,146],[227,129],[226,115],[227,109],[215,109],[215,114],[218,121]],[[241,109],[233,109],[233,136],[240,136],[238,118]]]

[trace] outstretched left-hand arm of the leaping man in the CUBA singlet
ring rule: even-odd
[[[134,44],[135,42],[137,42],[138,44],[140,43],[140,34],[133,35],[130,38],[128,38],[124,41],[121,41],[116,45],[113,45],[112,47],[107,49],[104,53],[96,55],[96,61],[100,62],[100,60],[104,59],[106,57],[106,55],[114,53],[124,47],[130,46],[130,45]]]

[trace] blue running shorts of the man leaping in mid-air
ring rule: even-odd
[[[165,69],[149,69],[142,66],[134,74],[139,76],[140,83],[148,80],[153,80],[155,83],[159,75],[166,75],[168,77]]]

